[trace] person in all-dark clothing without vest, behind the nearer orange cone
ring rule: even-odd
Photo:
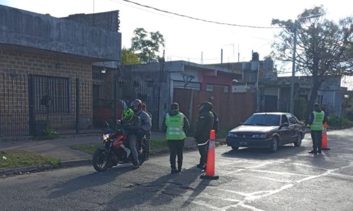
[[[203,101],[198,105],[199,118],[195,131],[195,140],[200,152],[200,163],[198,168],[204,169],[207,161],[207,152],[210,139],[210,131],[213,129],[214,116],[212,114],[213,105],[211,102]]]

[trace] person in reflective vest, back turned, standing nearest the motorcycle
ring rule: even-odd
[[[171,173],[178,173],[182,170],[183,147],[189,129],[189,121],[183,113],[179,112],[179,104],[177,102],[171,103],[170,112],[165,115],[162,122],[162,130],[166,133],[165,138],[170,150]],[[178,170],[175,166],[175,159],[177,156]]]

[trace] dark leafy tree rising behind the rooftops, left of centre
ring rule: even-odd
[[[156,58],[156,52],[158,52],[160,46],[164,47],[164,38],[159,31],[147,33],[144,28],[134,30],[134,37],[131,39],[131,50],[137,52],[142,62],[149,63]]]

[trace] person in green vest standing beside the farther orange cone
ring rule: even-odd
[[[309,118],[311,139],[313,140],[313,150],[309,152],[310,154],[321,153],[322,131],[326,121],[325,112],[321,111],[319,104],[314,104],[314,112],[311,113]]]

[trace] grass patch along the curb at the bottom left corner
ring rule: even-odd
[[[6,157],[6,160],[3,159],[3,156]],[[52,164],[56,167],[60,164],[60,161],[46,155],[40,155],[25,150],[0,152],[0,169],[19,168],[40,164]]]

